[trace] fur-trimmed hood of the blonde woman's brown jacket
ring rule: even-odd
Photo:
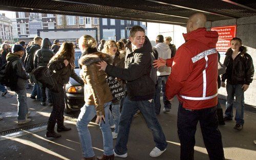
[[[100,61],[105,61],[106,63],[113,63],[113,58],[105,53],[101,53],[101,52],[95,52],[95,53],[90,53],[90,54],[86,54],[84,56],[82,56],[78,63],[80,65],[86,65],[86,66],[90,66],[92,64],[98,63]]]

